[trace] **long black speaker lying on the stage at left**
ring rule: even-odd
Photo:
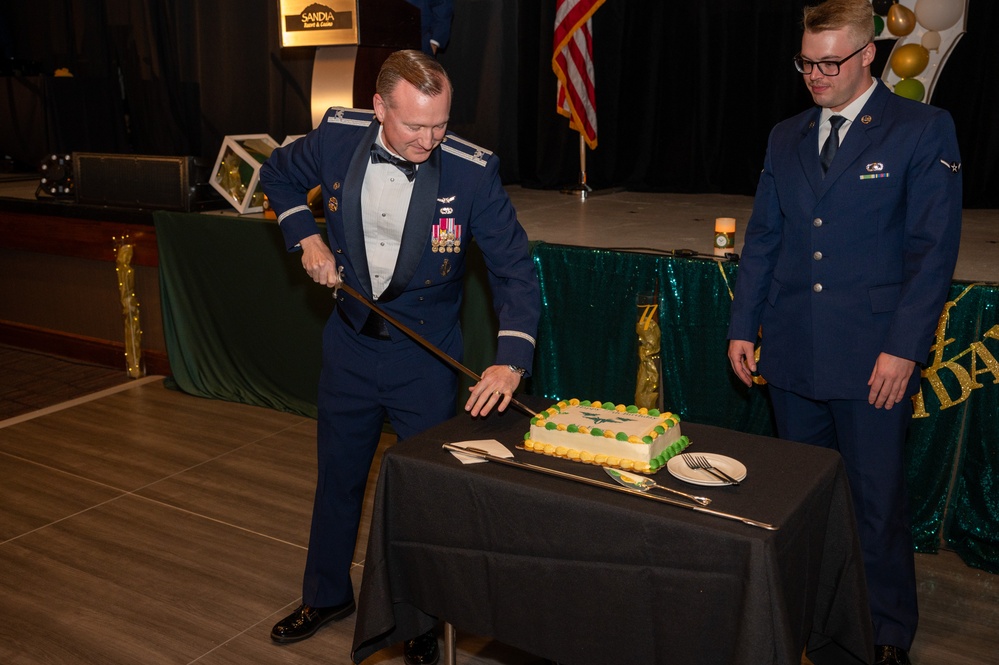
[[[193,157],[73,153],[76,200],[91,205],[190,211],[194,169]]]

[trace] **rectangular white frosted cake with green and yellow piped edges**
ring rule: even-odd
[[[689,444],[675,414],[578,399],[537,414],[524,435],[536,453],[640,473],[655,473]]]

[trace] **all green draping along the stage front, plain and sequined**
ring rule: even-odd
[[[177,387],[315,417],[321,331],[332,299],[305,275],[299,256],[285,252],[277,224],[168,212],[154,219]],[[496,320],[485,265],[474,245],[469,250],[465,364],[481,372],[495,354]],[[766,386],[747,389],[728,367],[737,264],[544,243],[532,253],[543,310],[527,391],[553,401],[634,403],[638,303],[651,299],[661,329],[664,406],[687,421],[774,435]],[[907,444],[917,549],[943,545],[995,573],[997,309],[999,285],[953,284]],[[464,395],[460,390],[459,403]]]

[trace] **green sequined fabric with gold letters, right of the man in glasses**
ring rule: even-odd
[[[999,573],[999,285],[953,284],[945,313],[909,431],[916,544]]]

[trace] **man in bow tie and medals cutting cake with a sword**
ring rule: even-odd
[[[531,367],[540,315],[527,236],[503,190],[498,159],[447,133],[451,83],[420,51],[399,51],[376,81],[374,111],[330,109],[319,127],[275,150],[260,181],[289,251],[317,283],[341,280],[461,359],[459,309],[472,238],[499,317],[495,364],[465,410],[503,410]],[[322,186],[328,244],[306,194]],[[334,291],[334,293],[337,293]],[[454,414],[453,369],[345,293],[323,332],[319,473],[302,605],[278,622],[280,643],[354,611],[349,569],[371,460],[385,417],[399,440]],[[433,633],[406,644],[412,664],[436,662]]]

